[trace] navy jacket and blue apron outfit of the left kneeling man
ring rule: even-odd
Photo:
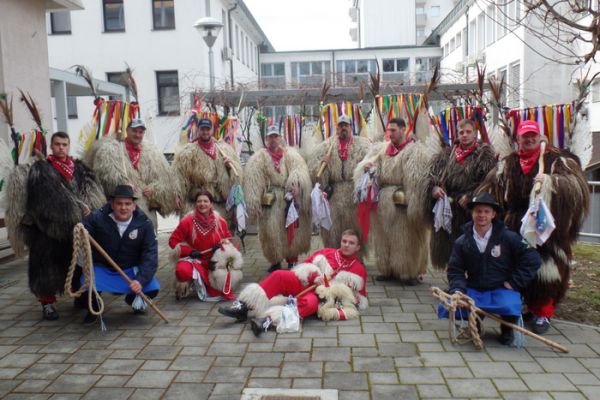
[[[122,187],[118,186],[115,193],[118,194]],[[119,221],[112,212],[111,204],[107,203],[85,218],[83,225],[123,272],[140,283],[142,291],[149,298],[156,297],[160,289],[160,284],[154,277],[158,269],[158,243],[152,221],[140,208],[133,211],[129,221]],[[96,290],[126,294],[125,301],[131,305],[136,295],[127,281],[95,248],[92,250],[92,258]],[[83,283],[83,277],[81,280]]]

